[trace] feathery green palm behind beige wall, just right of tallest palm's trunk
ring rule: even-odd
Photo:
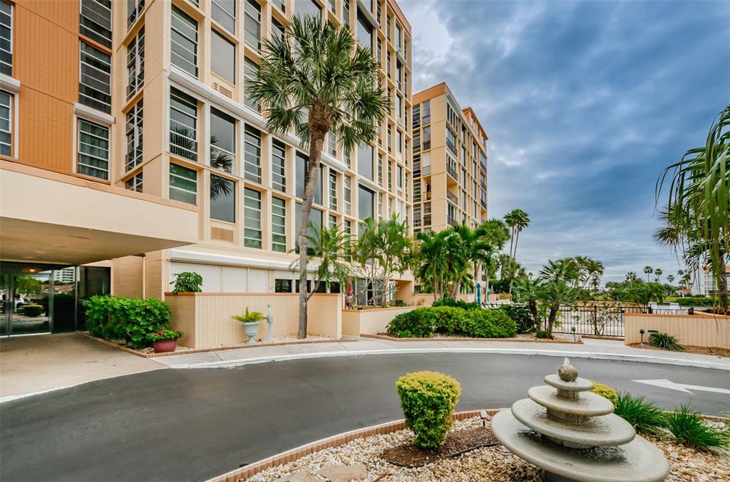
[[[347,285],[350,276],[350,265],[342,260],[342,254],[350,246],[350,236],[339,226],[316,225],[310,222],[307,234],[307,265],[315,264],[317,268],[312,273],[312,290],[307,293],[307,301],[318,292],[322,283],[326,292],[331,292],[333,282],[340,287]],[[289,266],[291,271],[299,269],[299,260],[294,260]]]

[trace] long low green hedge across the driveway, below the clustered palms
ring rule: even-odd
[[[434,333],[473,338],[511,338],[517,325],[499,309],[437,306],[416,308],[397,315],[388,324],[388,335],[399,338],[431,338]]]

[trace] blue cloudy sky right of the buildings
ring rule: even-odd
[[[580,254],[604,282],[646,265],[677,275],[652,238],[655,184],[730,103],[730,1],[399,5],[413,92],[447,82],[489,136],[489,217],[529,213],[528,271]]]

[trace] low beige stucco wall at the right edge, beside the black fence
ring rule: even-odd
[[[639,343],[642,328],[675,336],[683,345],[730,349],[730,316],[626,314],[624,343]]]

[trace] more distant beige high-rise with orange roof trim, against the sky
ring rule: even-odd
[[[413,228],[487,220],[487,134],[442,82],[413,96]]]

